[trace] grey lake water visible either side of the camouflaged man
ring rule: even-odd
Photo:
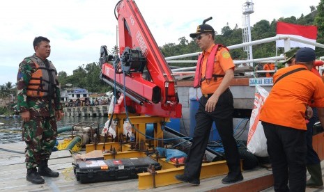
[[[105,125],[108,117],[63,117],[61,121],[57,122],[57,127],[72,126],[79,122],[93,121],[98,122],[100,129]],[[0,118],[0,144],[16,143],[22,141],[22,118]],[[60,136],[58,139],[62,139]]]

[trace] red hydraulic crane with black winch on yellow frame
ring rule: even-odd
[[[114,113],[125,113],[126,99],[130,113],[180,118],[176,81],[136,3],[118,1],[115,12],[119,55],[108,55],[106,46],[100,50],[100,78],[122,93]]]

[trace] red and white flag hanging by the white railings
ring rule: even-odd
[[[295,38],[300,38],[302,40],[316,42],[317,26],[277,22],[277,35],[289,35]],[[276,47],[284,47],[284,40],[277,40]],[[292,40],[291,47],[310,47],[312,49],[315,49],[314,45],[308,45],[302,42],[295,42]]]

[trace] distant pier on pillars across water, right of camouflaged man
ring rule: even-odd
[[[108,115],[109,105],[64,107],[67,117],[102,117]]]

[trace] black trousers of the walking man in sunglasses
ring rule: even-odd
[[[199,99],[194,137],[185,163],[185,175],[190,180],[199,179],[203,154],[208,145],[210,129],[215,121],[217,131],[223,141],[229,176],[236,177],[241,173],[238,146],[233,136],[233,95],[227,89],[219,97],[215,110],[211,113],[205,111],[207,100],[208,97],[204,96]]]

